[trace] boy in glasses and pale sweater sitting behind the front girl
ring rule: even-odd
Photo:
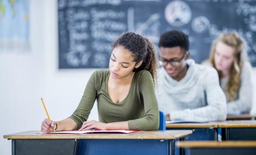
[[[171,30],[159,42],[157,98],[167,121],[223,121],[226,99],[214,68],[189,59],[188,35]]]

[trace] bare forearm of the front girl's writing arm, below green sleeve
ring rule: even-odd
[[[56,131],[70,131],[76,130],[77,124],[71,118],[63,119],[62,121],[57,121],[57,129]]]

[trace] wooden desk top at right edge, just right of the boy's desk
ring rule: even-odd
[[[235,120],[218,122],[219,128],[256,128],[256,120]]]

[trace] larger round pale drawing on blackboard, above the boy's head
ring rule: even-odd
[[[180,27],[191,20],[191,8],[183,1],[172,1],[164,12],[166,20],[171,26]]]

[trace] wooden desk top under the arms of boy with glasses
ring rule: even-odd
[[[216,122],[208,123],[181,123],[181,124],[166,124],[166,128],[218,128]]]

